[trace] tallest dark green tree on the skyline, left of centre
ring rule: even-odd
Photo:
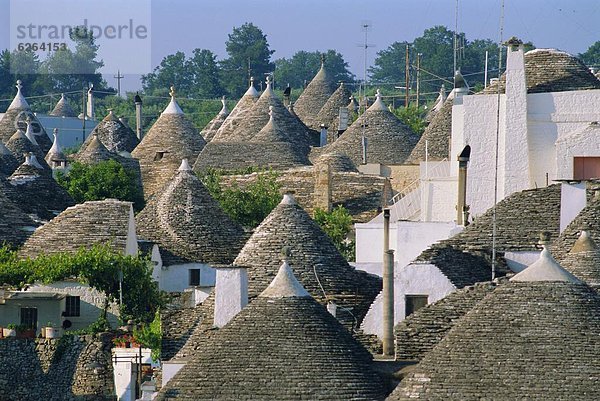
[[[252,23],[233,28],[225,42],[228,58],[220,62],[223,86],[230,97],[240,97],[248,88],[249,76],[262,80],[273,72],[275,64],[269,49],[267,36]]]

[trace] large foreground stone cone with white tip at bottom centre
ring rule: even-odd
[[[161,389],[163,400],[378,400],[371,355],[294,278],[273,283]]]

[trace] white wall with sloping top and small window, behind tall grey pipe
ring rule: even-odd
[[[444,298],[456,287],[442,272],[430,263],[412,263],[394,267],[394,325],[406,318],[406,296],[426,295],[427,303]],[[361,329],[368,334],[383,336],[383,298],[381,293],[371,304]]]

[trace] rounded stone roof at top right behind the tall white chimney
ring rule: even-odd
[[[535,49],[525,53],[527,93],[564,92],[600,89],[600,81],[581,60],[556,49]],[[506,73],[500,77],[504,93]],[[497,93],[497,85],[489,85],[482,93]]]

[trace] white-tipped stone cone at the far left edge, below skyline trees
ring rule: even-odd
[[[0,140],[6,144],[17,129],[21,129],[25,132],[27,130],[27,125],[31,125],[30,130],[32,135],[35,136],[36,142],[42,149],[41,159],[43,159],[52,147],[52,141],[46,134],[44,127],[40,124],[35,114],[32,113],[29,103],[27,103],[27,100],[23,96],[23,93],[21,92],[23,86],[21,85],[20,80],[17,81],[16,87],[17,94],[0,120]],[[38,156],[38,158],[40,157]]]

